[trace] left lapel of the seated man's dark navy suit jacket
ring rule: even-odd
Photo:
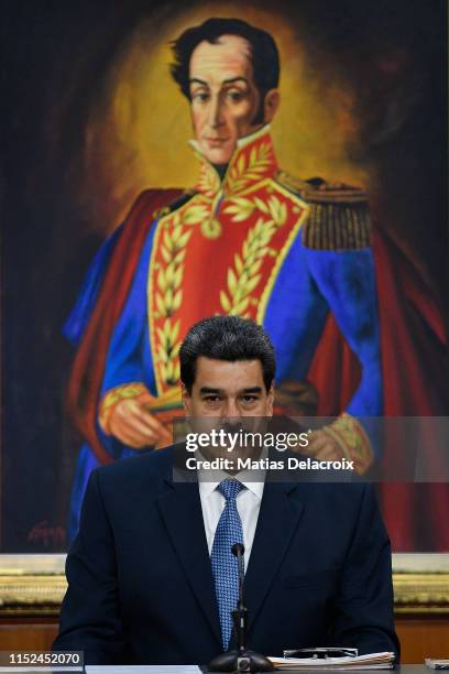
[[[158,507],[172,545],[217,639],[219,651],[221,628],[198,483],[171,483],[169,489],[160,497]]]

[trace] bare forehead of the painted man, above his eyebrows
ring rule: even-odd
[[[204,41],[190,57],[189,78],[223,81],[237,76],[251,77],[251,46],[239,35],[221,35],[213,44]]]

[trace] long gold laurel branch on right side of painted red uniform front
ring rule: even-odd
[[[249,317],[251,293],[258,286],[265,256],[276,256],[270,242],[280,225],[274,219],[259,218],[243,241],[241,254],[236,253],[233,268],[228,269],[228,292],[220,292],[220,304],[227,314]]]

